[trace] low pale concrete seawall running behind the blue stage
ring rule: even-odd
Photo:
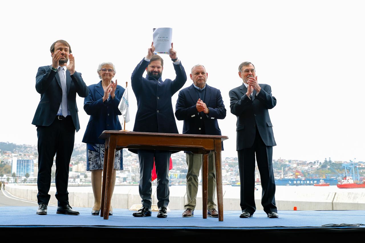
[[[187,201],[186,187],[176,186],[178,189],[170,189],[170,209],[184,209]],[[239,187],[238,187],[239,188]],[[16,197],[26,200],[37,201],[37,186],[8,184],[5,189]],[[50,204],[57,204],[55,187],[51,187]],[[232,187],[223,187],[224,210],[240,210],[239,192]],[[152,204],[157,204],[156,187],[152,190]],[[365,210],[365,192],[288,192],[277,191],[275,194],[278,210]],[[202,198],[199,188],[196,209],[201,210]],[[216,200],[215,200],[216,201]],[[73,207],[93,207],[94,197],[91,187],[69,187],[69,202]],[[255,203],[258,210],[261,206],[261,189],[255,191]],[[130,208],[133,204],[141,204],[137,186],[116,186],[112,197],[114,208]]]

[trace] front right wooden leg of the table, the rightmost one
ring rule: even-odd
[[[222,144],[220,139],[214,140],[214,147],[215,147],[215,171],[216,171],[217,201],[218,201],[218,220],[223,221],[223,190],[222,190],[222,163],[221,163]]]

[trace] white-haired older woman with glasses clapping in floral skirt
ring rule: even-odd
[[[115,66],[111,62],[99,64],[97,73],[101,81],[89,86],[89,95],[84,100],[84,110],[90,115],[82,142],[87,144],[87,171],[91,171],[91,185],[94,193],[94,207],[92,215],[99,215],[101,208],[101,171],[104,167],[105,140],[99,136],[104,130],[120,130],[118,115],[119,102],[124,88],[112,81],[115,75]],[[112,193],[114,191],[116,171],[123,170],[122,150],[115,152],[114,173],[112,179]],[[110,213],[113,211],[110,206]]]

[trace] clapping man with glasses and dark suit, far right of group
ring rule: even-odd
[[[276,145],[269,109],[276,105],[271,87],[259,84],[255,66],[243,62],[238,67],[242,85],[229,92],[231,113],[237,116],[237,153],[241,181],[241,218],[256,210],[254,198],[255,154],[261,176],[261,204],[269,218],[277,218],[272,151]]]

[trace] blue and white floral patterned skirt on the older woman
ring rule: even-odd
[[[100,170],[104,168],[104,144],[87,144],[87,164],[86,170]],[[123,170],[123,152],[122,150],[115,151],[114,169],[117,171]]]

